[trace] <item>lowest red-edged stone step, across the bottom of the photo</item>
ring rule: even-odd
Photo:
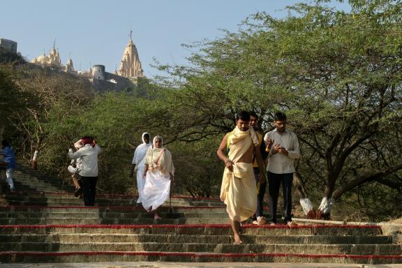
[[[314,262],[370,265],[401,263],[401,256],[304,253],[182,253],[142,251],[0,252],[0,262]]]

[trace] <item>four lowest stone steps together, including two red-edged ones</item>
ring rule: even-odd
[[[402,263],[399,245],[376,226],[244,225],[0,226],[1,262],[338,262]]]

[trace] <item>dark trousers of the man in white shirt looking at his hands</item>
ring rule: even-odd
[[[271,222],[276,223],[276,209],[278,207],[279,188],[283,191],[283,211],[285,223],[292,221],[292,182],[293,173],[276,174],[268,172],[269,183],[269,215]]]

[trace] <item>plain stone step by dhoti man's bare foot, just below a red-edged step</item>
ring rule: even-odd
[[[232,244],[230,234],[103,234],[103,233],[52,233],[52,234],[0,234],[2,243],[186,243],[197,241],[200,244]],[[392,244],[389,236],[343,236],[292,234],[245,234],[244,244]],[[10,248],[11,249],[11,248]]]

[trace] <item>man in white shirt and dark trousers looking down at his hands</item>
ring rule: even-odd
[[[279,188],[282,184],[285,223],[292,225],[292,181],[295,160],[301,156],[299,141],[295,133],[286,129],[286,115],[283,112],[275,113],[274,126],[276,127],[274,131],[270,131],[264,137],[265,144],[272,144],[267,165],[269,215],[271,225],[275,225]]]

